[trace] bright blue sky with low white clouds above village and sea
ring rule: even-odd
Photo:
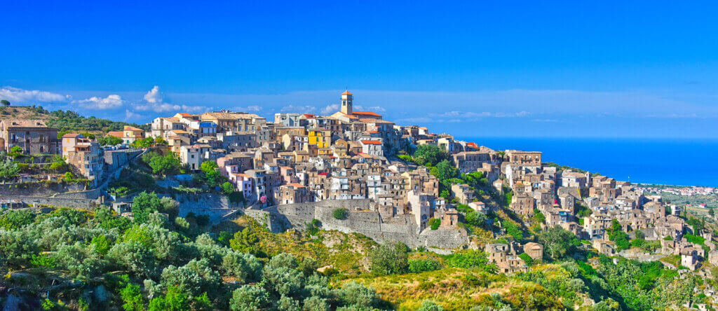
[[[715,3],[355,2],[11,1],[0,97],[144,123],[348,87],[439,133],[718,138]]]

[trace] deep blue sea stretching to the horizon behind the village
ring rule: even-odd
[[[632,183],[718,186],[718,139],[457,137]]]

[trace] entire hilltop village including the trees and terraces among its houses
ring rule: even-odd
[[[540,151],[493,150],[396,125],[355,111],[349,91],[332,115],[178,112],[106,135],[57,133],[45,120],[0,121],[7,155],[39,155],[0,184],[4,209],[106,205],[132,219],[146,183],[128,172],[147,163],[161,176],[148,190],[172,194],[181,216],[208,215],[213,224],[246,214],[274,232],[313,224],[438,254],[480,249],[505,274],[556,257],[551,239],[538,236],[556,230],[611,258],[718,265],[705,221],[645,188],[549,165]],[[56,163],[69,168],[40,169]]]

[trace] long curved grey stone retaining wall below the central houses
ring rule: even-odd
[[[248,216],[266,223],[274,232],[286,229],[304,229],[312,219],[322,223],[322,228],[342,232],[358,232],[376,241],[401,241],[409,247],[432,247],[434,249],[457,249],[469,243],[464,229],[416,231],[414,218],[410,215],[381,219],[378,211],[370,210],[373,202],[363,200],[325,200],[300,204],[270,206],[266,209],[251,210]],[[348,209],[346,219],[335,219],[335,209]]]

